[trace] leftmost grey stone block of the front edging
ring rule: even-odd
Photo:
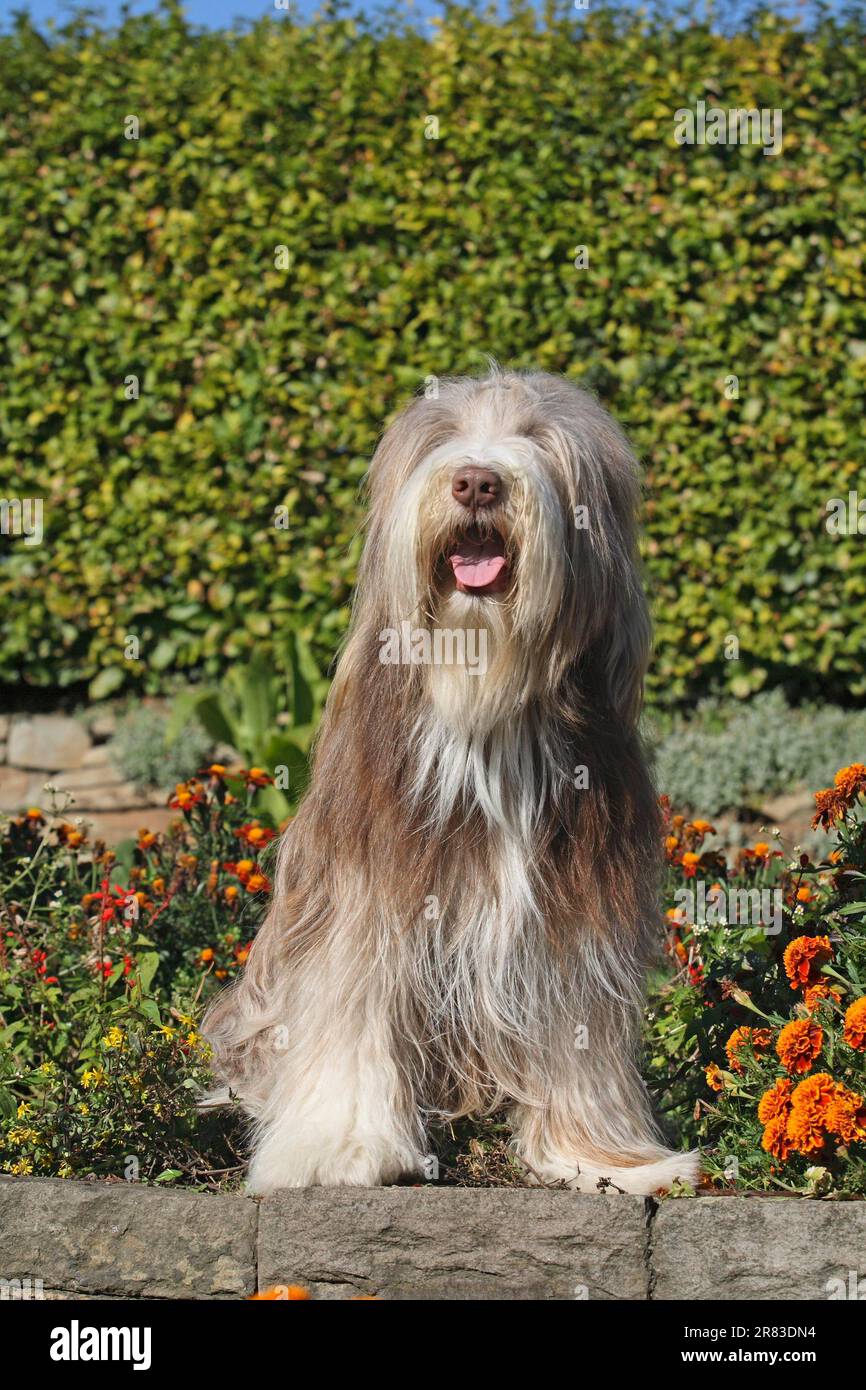
[[[126,1183],[0,1180],[0,1269],[70,1294],[243,1298],[256,1204]]]

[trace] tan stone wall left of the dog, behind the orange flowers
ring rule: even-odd
[[[68,817],[83,816],[93,835],[114,845],[142,826],[164,830],[165,794],[125,781],[108,752],[111,716],[89,724],[67,714],[0,714],[0,812],[49,805],[46,783],[70,792]]]

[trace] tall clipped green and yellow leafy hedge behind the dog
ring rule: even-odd
[[[0,38],[0,492],[46,499],[40,546],[0,539],[0,680],[157,689],[292,628],[329,657],[382,421],[492,353],[591,385],[646,460],[656,699],[860,696],[866,539],[824,506],[866,498],[865,39],[595,8]],[[677,146],[698,99],[781,107],[781,156]]]

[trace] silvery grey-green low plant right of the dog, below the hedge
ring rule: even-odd
[[[863,756],[866,712],[790,709],[776,689],[746,702],[702,701],[688,719],[649,716],[646,731],[659,791],[674,806],[713,817],[756,812],[780,792],[824,785],[837,767]]]

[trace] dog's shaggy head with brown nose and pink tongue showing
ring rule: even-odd
[[[542,373],[442,382],[386,431],[370,488],[361,589],[377,621],[484,630],[487,685],[506,705],[506,677],[525,701],[595,652],[634,717],[648,644],[637,468],[592,398]]]

